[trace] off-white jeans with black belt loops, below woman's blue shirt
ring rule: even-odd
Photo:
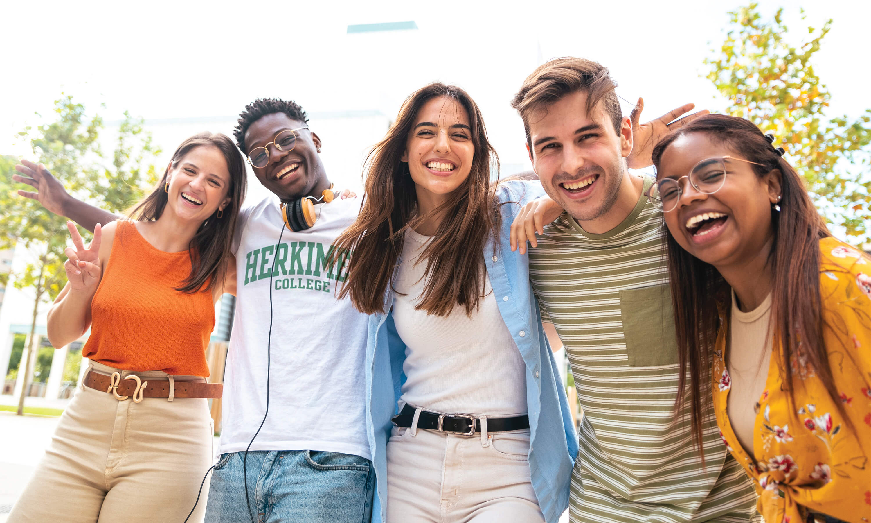
[[[387,522],[544,522],[530,483],[530,431],[394,427],[387,444]]]

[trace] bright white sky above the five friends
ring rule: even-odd
[[[442,80],[481,105],[503,164],[525,166],[523,126],[509,101],[541,58],[582,56],[610,67],[618,94],[644,96],[642,119],[689,101],[716,110],[723,100],[699,77],[702,60],[725,34],[726,11],[741,3],[82,4],[3,2],[0,153],[27,153],[14,133],[38,121],[34,112],[49,115],[62,91],[91,112],[105,103],[99,111],[107,120],[125,110],[145,119],[234,118],[257,97],[292,98],[308,112],[378,110],[393,119],[410,92]],[[814,69],[833,92],[830,116],[859,116],[871,106],[871,2],[806,2],[806,23],[794,0],[763,0],[760,9],[771,15],[780,5],[796,40],[808,24],[834,18]],[[346,32],[348,24],[405,20],[419,30]],[[167,156],[178,144],[159,145]]]

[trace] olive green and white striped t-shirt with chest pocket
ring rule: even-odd
[[[644,190],[652,184],[645,177]],[[705,467],[689,409],[676,417],[678,353],[665,262],[665,225],[642,193],[605,234],[568,214],[530,249],[545,321],[569,355],[584,410],[572,472],[571,521],[683,523],[755,520],[750,479],[706,419]]]

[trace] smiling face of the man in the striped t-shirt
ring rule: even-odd
[[[588,113],[587,92],[580,91],[532,112],[529,131],[530,160],[550,198],[577,221],[607,218],[628,182],[629,119],[614,132],[602,103]]]

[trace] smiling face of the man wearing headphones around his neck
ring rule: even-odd
[[[281,200],[293,200],[303,196],[320,196],[329,187],[327,175],[321,163],[321,139],[307,129],[296,132],[296,145],[287,151],[278,150],[271,144],[282,131],[306,126],[306,122],[291,119],[283,112],[273,112],[255,121],[245,133],[246,154],[255,147],[268,146],[269,163],[264,167],[252,167],[254,175]]]

